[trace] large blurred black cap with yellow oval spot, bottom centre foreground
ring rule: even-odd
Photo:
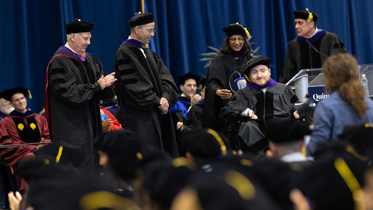
[[[255,181],[229,166],[209,173],[196,172],[173,206],[181,203],[199,206],[188,209],[279,209]]]

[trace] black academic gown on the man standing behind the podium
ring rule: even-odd
[[[326,32],[326,34],[318,38],[312,45],[316,47],[317,51],[326,56],[346,52],[344,43],[334,33]],[[288,43],[279,83],[287,83],[300,70],[311,68],[311,63],[312,68],[322,67],[327,57],[311,49],[312,62],[310,63],[309,51],[307,44],[303,44],[296,39]]]

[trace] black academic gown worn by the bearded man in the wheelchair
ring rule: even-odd
[[[298,101],[297,95],[291,87],[277,83],[263,90],[245,87],[238,90],[229,103],[222,108],[221,117],[226,117],[228,112],[236,110],[239,112],[250,108],[258,116],[257,120],[245,117],[239,128],[239,137],[253,151],[254,154],[268,146],[266,142],[264,126],[266,121],[273,118],[292,118],[295,112],[294,103]],[[294,118],[294,117],[293,117]]]

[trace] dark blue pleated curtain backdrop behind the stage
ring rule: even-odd
[[[257,55],[272,58],[277,80],[286,46],[296,37],[293,10],[320,15],[319,28],[336,33],[359,64],[373,63],[371,0],[147,0],[154,13],[156,52],[175,78],[186,72],[206,75],[199,53],[219,48],[222,28],[239,22],[251,29]],[[66,43],[64,25],[75,18],[95,24],[87,51],[97,56],[105,74],[113,71],[115,52],[130,34],[128,20],[141,11],[140,0],[0,0],[0,90],[31,90],[28,107],[43,108],[43,89],[51,56]]]

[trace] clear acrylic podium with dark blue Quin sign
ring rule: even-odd
[[[373,96],[373,64],[358,65],[358,72],[359,79],[361,75],[366,75],[369,96]],[[306,101],[307,94],[316,104],[329,96],[329,93],[324,92],[325,78],[322,68],[303,69],[286,84],[295,90],[295,94],[302,103]]]

